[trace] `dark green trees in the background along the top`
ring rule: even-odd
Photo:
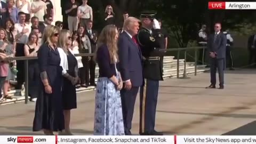
[[[229,0],[228,0],[229,1]],[[231,1],[231,0],[230,0]],[[245,1],[245,0],[242,0]],[[206,23],[209,33],[213,32],[214,22],[221,22],[223,29],[237,35],[250,35],[256,30],[253,10],[208,10],[205,0],[93,0],[94,28],[104,26],[106,5],[114,7],[117,21],[122,21],[124,11],[139,17],[142,10],[156,10],[157,18],[163,20],[163,27],[169,33],[169,47],[194,45],[198,30]],[[175,42],[173,42],[175,40]]]

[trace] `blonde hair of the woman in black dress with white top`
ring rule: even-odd
[[[67,47],[67,40],[68,40],[68,34],[70,35],[69,30],[62,29],[60,31],[60,36],[58,40],[58,47],[63,49],[63,51],[68,55],[68,47]]]

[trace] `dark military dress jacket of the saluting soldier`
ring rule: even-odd
[[[155,81],[163,81],[163,67],[160,57],[164,52],[159,49],[164,49],[164,35],[160,29],[155,29],[153,34],[146,28],[141,28],[137,35],[137,41],[140,45],[143,56],[143,76],[146,79]]]

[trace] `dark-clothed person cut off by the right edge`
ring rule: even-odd
[[[251,35],[248,39],[247,48],[249,53],[249,65],[256,63],[256,35]]]

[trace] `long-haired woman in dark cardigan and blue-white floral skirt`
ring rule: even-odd
[[[95,97],[94,135],[124,135],[120,90],[123,82],[116,69],[118,31],[108,25],[98,39],[95,60],[99,78]]]

